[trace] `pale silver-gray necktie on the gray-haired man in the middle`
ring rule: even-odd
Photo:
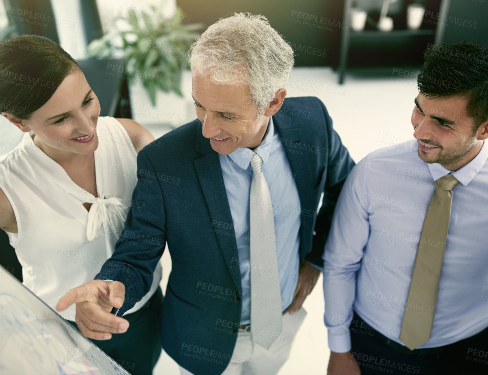
[[[282,329],[282,304],[273,206],[263,175],[263,159],[253,152],[249,202],[251,264],[251,338],[269,349]]]

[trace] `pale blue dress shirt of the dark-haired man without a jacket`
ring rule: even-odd
[[[418,156],[416,139],[369,154],[340,194],[324,253],[325,325],[331,351],[351,349],[352,310],[398,338],[435,180],[452,174],[451,216],[430,339],[451,344],[488,327],[488,142],[455,172]],[[427,308],[427,306],[419,306]],[[363,327],[364,328],[364,327]],[[350,329],[360,330],[354,323]]]

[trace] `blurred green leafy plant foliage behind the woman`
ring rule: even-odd
[[[167,17],[155,6],[151,12],[129,9],[119,20],[125,20],[124,29],[115,26],[101,39],[93,40],[88,45],[87,56],[123,57],[123,75],[131,86],[131,96],[133,88],[138,91],[141,84],[153,106],[158,91],[182,97],[182,71],[189,68],[188,49],[203,29],[203,23],[190,23],[180,8]]]

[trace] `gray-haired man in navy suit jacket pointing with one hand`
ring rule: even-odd
[[[190,62],[198,119],[140,151],[133,200],[146,204],[132,206],[96,279],[58,308],[76,302],[87,337],[123,334],[121,316],[151,285],[167,242],[155,329],[181,373],[276,374],[354,162],[319,99],[285,99],[293,51],[263,16],[217,21]]]

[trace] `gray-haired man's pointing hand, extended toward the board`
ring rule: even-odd
[[[110,314],[121,308],[125,286],[120,281],[91,280],[71,289],[61,297],[56,310],[63,311],[76,303],[76,324],[83,336],[94,340],[108,340],[112,333],[124,333],[129,322]]]

